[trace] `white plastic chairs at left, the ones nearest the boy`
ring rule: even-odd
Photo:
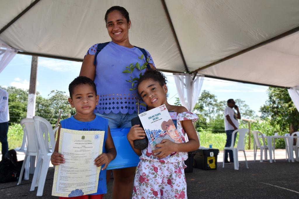
[[[55,140],[52,126],[47,120],[39,116],[34,116],[33,119],[36,128],[36,136],[39,143],[39,155],[36,161],[36,168],[34,171],[30,191],[34,191],[34,188],[38,186],[36,195],[42,196],[52,155],[52,150],[50,148],[52,147],[54,149]],[[51,147],[49,146],[48,136],[50,136]]]

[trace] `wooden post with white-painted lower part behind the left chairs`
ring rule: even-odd
[[[35,115],[37,62],[38,62],[38,57],[32,56],[29,93],[28,93],[28,105],[27,105],[27,118],[33,118],[33,116]]]

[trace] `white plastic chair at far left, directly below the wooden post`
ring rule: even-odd
[[[24,168],[25,169],[25,180],[29,180],[29,161],[30,161],[30,156],[38,156],[38,141],[36,138],[36,133],[35,133],[35,124],[34,120],[32,118],[24,118],[21,120],[21,126],[23,127],[24,131],[24,136],[25,140],[27,140],[27,148],[25,151],[25,158],[24,162],[22,165],[21,173],[20,173],[20,178],[18,181],[19,185],[22,181],[23,172]],[[24,136],[23,136],[23,141],[24,141]]]

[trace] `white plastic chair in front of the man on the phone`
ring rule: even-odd
[[[232,150],[233,151],[233,155],[234,155],[234,169],[235,170],[239,170],[239,160],[238,160],[238,151],[243,151],[244,152],[244,157],[245,157],[245,163],[246,163],[246,168],[248,169],[248,163],[247,163],[247,158],[246,158],[246,154],[245,154],[245,144],[246,144],[246,138],[247,138],[247,134],[248,134],[248,129],[237,129],[234,130],[232,136],[231,136],[231,146],[230,147],[224,147],[224,151],[223,151],[223,163],[222,163],[222,167],[224,168],[224,154],[225,154],[225,150]],[[239,140],[238,140],[238,144],[237,147],[234,148],[234,136],[236,133],[239,133]]]

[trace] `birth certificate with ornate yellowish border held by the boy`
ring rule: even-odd
[[[105,131],[60,129],[58,152],[65,163],[55,166],[52,195],[74,197],[97,192],[101,166],[94,159],[102,154]]]

